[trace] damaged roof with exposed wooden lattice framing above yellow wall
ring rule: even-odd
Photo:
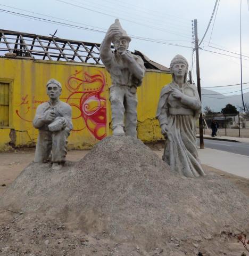
[[[56,36],[41,36],[18,31],[0,30],[0,57],[39,59],[52,61],[75,61],[103,65],[99,58],[99,43],[62,39]],[[112,49],[114,50],[113,46]],[[136,51],[147,69],[169,71],[143,53]]]

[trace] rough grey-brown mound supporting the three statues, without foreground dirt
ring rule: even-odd
[[[174,239],[181,241],[176,246],[184,246],[249,230],[248,198],[234,185],[211,173],[180,177],[128,136],[105,138],[60,171],[30,164],[6,190],[0,207],[42,213],[87,234],[105,232],[117,243],[137,243],[147,251]]]

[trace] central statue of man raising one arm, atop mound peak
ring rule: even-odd
[[[113,135],[137,137],[137,86],[142,84],[144,61],[128,51],[131,38],[118,19],[108,29],[100,47],[100,58],[111,74],[110,102]],[[113,43],[115,51],[111,51]],[[124,125],[125,115],[125,125]]]

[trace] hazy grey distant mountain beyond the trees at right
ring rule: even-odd
[[[218,93],[218,94],[217,94]],[[211,95],[210,95],[211,94]],[[215,95],[214,95],[215,94]],[[249,102],[249,92],[243,94],[244,102]],[[235,107],[242,107],[241,94],[226,96],[219,92],[202,89],[202,109],[209,106],[215,112],[221,111],[222,108],[230,103]]]

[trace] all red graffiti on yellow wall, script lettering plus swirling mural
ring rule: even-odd
[[[68,90],[64,91],[66,101],[72,107],[74,132],[89,131],[97,140],[106,137],[106,95],[105,76],[101,71],[90,75],[86,71],[75,71],[65,83]],[[23,121],[32,122],[34,110],[46,100],[36,98],[36,95],[24,94],[20,104],[15,109],[16,115]],[[41,95],[45,97],[45,95]]]

